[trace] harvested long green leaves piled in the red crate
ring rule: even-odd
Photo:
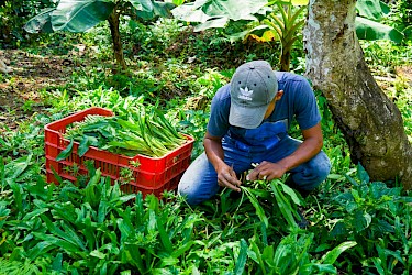
[[[57,160],[66,158],[74,141],[79,142],[77,153],[86,154],[90,146],[112,153],[159,157],[183,144],[187,139],[177,132],[164,114],[155,108],[131,107],[129,112],[114,117],[87,116],[67,129],[65,138],[71,140]]]

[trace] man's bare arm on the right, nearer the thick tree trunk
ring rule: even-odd
[[[261,162],[255,169],[248,175],[249,180],[256,180],[267,178],[271,180],[274,178],[280,178],[288,170],[299,166],[302,163],[308,162],[315,156],[323,146],[323,135],[321,123],[302,130],[303,142],[299,145],[297,151],[291,155],[280,160],[277,163]]]

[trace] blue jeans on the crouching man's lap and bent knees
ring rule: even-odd
[[[233,165],[236,175],[252,169],[252,163],[263,161],[276,163],[292,154],[301,141],[286,135],[279,141],[275,148],[264,152],[250,152],[237,148],[232,142],[223,140],[224,162]],[[321,151],[309,162],[289,170],[292,180],[301,190],[311,191],[316,188],[329,175],[331,162],[326,154]],[[186,197],[189,205],[198,205],[210,199],[220,189],[218,174],[209,162],[205,153],[199,155],[185,172],[178,185],[178,193]]]

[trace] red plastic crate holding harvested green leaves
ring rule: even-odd
[[[194,139],[185,135],[187,142],[167,155],[162,157],[149,157],[137,154],[133,157],[113,154],[104,150],[90,146],[89,151],[79,157],[77,148],[79,143],[74,142],[73,152],[64,161],[56,161],[58,154],[67,147],[69,140],[64,139],[66,127],[73,122],[82,121],[88,114],[113,116],[113,112],[103,108],[89,108],[67,118],[57,120],[45,127],[45,150],[47,182],[58,184],[53,169],[63,178],[75,182],[78,175],[87,175],[86,161],[93,161],[94,167],[100,168],[103,176],[114,180],[121,178],[122,168],[133,173],[133,179],[122,189],[126,193],[142,191],[143,195],[155,194],[157,197],[166,190],[176,189],[183,172],[189,167],[190,155]],[[140,166],[134,167],[131,162],[138,162]],[[76,167],[75,167],[76,166]],[[74,174],[76,170],[76,174]]]

